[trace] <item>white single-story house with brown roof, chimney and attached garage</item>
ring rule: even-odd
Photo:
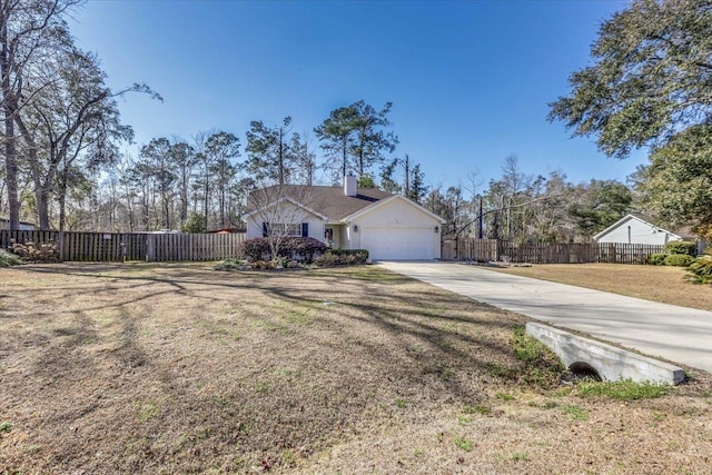
[[[375,188],[283,185],[248,199],[247,238],[281,231],[313,237],[333,248],[368,249],[374,260],[439,259],[445,222],[409,199]]]

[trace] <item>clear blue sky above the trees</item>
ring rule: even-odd
[[[508,155],[532,175],[624,180],[593,138],[546,120],[590,62],[599,26],[624,1],[89,1],[70,28],[102,60],[108,83],[149,83],[165,102],[120,107],[138,145],[250,120],[294,119],[312,131],[359,99],[394,103],[394,156],[421,162],[432,186],[471,171],[498,178]],[[135,152],[137,147],[129,149]]]

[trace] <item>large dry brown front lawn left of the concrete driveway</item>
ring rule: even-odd
[[[0,269],[0,473],[710,473],[710,375],[586,397],[524,323],[376,267]]]

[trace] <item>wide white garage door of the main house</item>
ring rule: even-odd
[[[433,259],[433,228],[362,228],[360,247],[374,260]]]

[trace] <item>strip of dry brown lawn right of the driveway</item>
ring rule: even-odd
[[[498,271],[712,310],[712,287],[685,283],[684,268],[625,264],[546,264]]]

